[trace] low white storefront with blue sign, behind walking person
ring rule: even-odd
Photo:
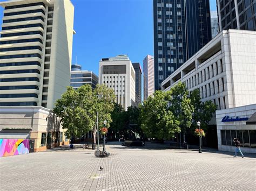
[[[256,153],[256,104],[218,110],[216,121],[220,151],[234,152],[238,138],[243,153]]]

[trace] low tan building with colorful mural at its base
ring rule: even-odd
[[[18,147],[12,143],[19,145],[28,142],[25,147],[29,152],[69,144],[64,132],[60,118],[49,109],[33,106],[0,107],[0,157],[15,155],[11,154],[11,150],[18,150]],[[8,143],[9,147],[6,146]]]

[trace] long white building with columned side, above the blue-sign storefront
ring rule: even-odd
[[[201,100],[219,109],[256,103],[256,32],[221,31],[162,83],[167,91],[179,81],[199,89]]]

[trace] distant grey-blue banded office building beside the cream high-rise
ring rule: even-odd
[[[82,66],[77,64],[71,66],[70,86],[74,89],[77,89],[84,84],[89,84],[92,89],[95,89],[98,84],[98,80],[98,76],[95,73],[82,70]]]

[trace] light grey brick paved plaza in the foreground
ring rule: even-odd
[[[108,143],[109,158],[75,148],[0,158],[1,190],[255,190],[255,155]],[[247,157],[246,157],[247,156]],[[99,170],[99,166],[104,168]]]

